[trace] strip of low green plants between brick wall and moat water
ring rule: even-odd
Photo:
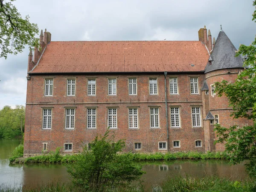
[[[13,156],[10,157],[10,163],[73,163],[76,161],[78,154],[66,154],[62,155],[60,149],[56,149],[55,152],[51,151],[47,154],[38,155],[35,157],[23,158],[23,145],[19,145],[15,148]],[[225,152],[207,152],[201,153],[196,151],[188,152],[176,152],[176,153],[154,153],[154,154],[142,154],[142,153],[124,153],[122,156],[130,156],[134,161],[172,161],[177,159],[229,159],[229,156]]]

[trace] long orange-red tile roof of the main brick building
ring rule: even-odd
[[[52,41],[30,73],[196,72],[208,59],[201,41]]]

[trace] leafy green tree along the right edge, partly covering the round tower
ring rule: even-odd
[[[253,2],[256,6],[256,1]],[[256,22],[256,10],[253,13],[253,20]],[[225,80],[215,83],[215,90],[218,96],[225,95],[233,108],[231,114],[234,118],[244,117],[256,119],[256,38],[250,46],[240,45],[236,55],[244,55],[246,67],[234,83]],[[225,143],[225,149],[230,153],[230,161],[234,164],[243,160],[250,160],[247,163],[249,170],[256,171],[256,124],[243,127],[231,126],[224,128],[215,125],[218,140],[216,143]],[[255,174],[256,172],[254,172]]]

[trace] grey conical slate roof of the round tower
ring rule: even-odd
[[[209,62],[205,67],[205,73],[219,69],[244,68],[244,58],[241,55],[235,57],[236,51],[236,47],[221,28],[210,55]]]

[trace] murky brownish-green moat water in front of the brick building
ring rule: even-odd
[[[70,181],[66,167],[61,164],[9,164],[11,152],[20,142],[19,139],[0,139],[0,185],[5,183],[10,186],[33,187],[54,181],[61,183]],[[217,175],[231,180],[242,180],[248,176],[244,164],[230,166],[226,160],[177,160],[140,164],[147,172],[142,179],[150,186],[162,182],[166,177],[178,175],[195,177]]]

